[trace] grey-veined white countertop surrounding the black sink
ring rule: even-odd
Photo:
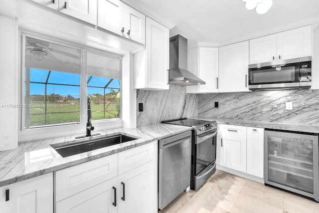
[[[101,135],[93,136],[94,139],[118,133],[139,139],[65,158],[61,157],[50,145],[64,145],[87,139],[75,139],[78,135],[67,135],[19,143],[16,149],[0,152],[0,187],[112,155],[188,130],[191,128],[170,124],[154,124],[135,129],[115,128],[96,131],[95,133],[101,133]]]

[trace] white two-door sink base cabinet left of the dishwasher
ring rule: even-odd
[[[56,213],[155,213],[157,144],[57,171]]]

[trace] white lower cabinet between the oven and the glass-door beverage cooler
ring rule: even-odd
[[[264,129],[220,124],[220,166],[264,177]]]

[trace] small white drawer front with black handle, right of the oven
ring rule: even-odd
[[[229,140],[246,140],[246,129],[244,126],[235,126],[235,125],[220,125],[220,131],[222,138],[227,138]]]

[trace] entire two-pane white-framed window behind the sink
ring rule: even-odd
[[[85,132],[87,96],[95,130],[122,126],[120,56],[25,33],[22,44],[21,141]]]

